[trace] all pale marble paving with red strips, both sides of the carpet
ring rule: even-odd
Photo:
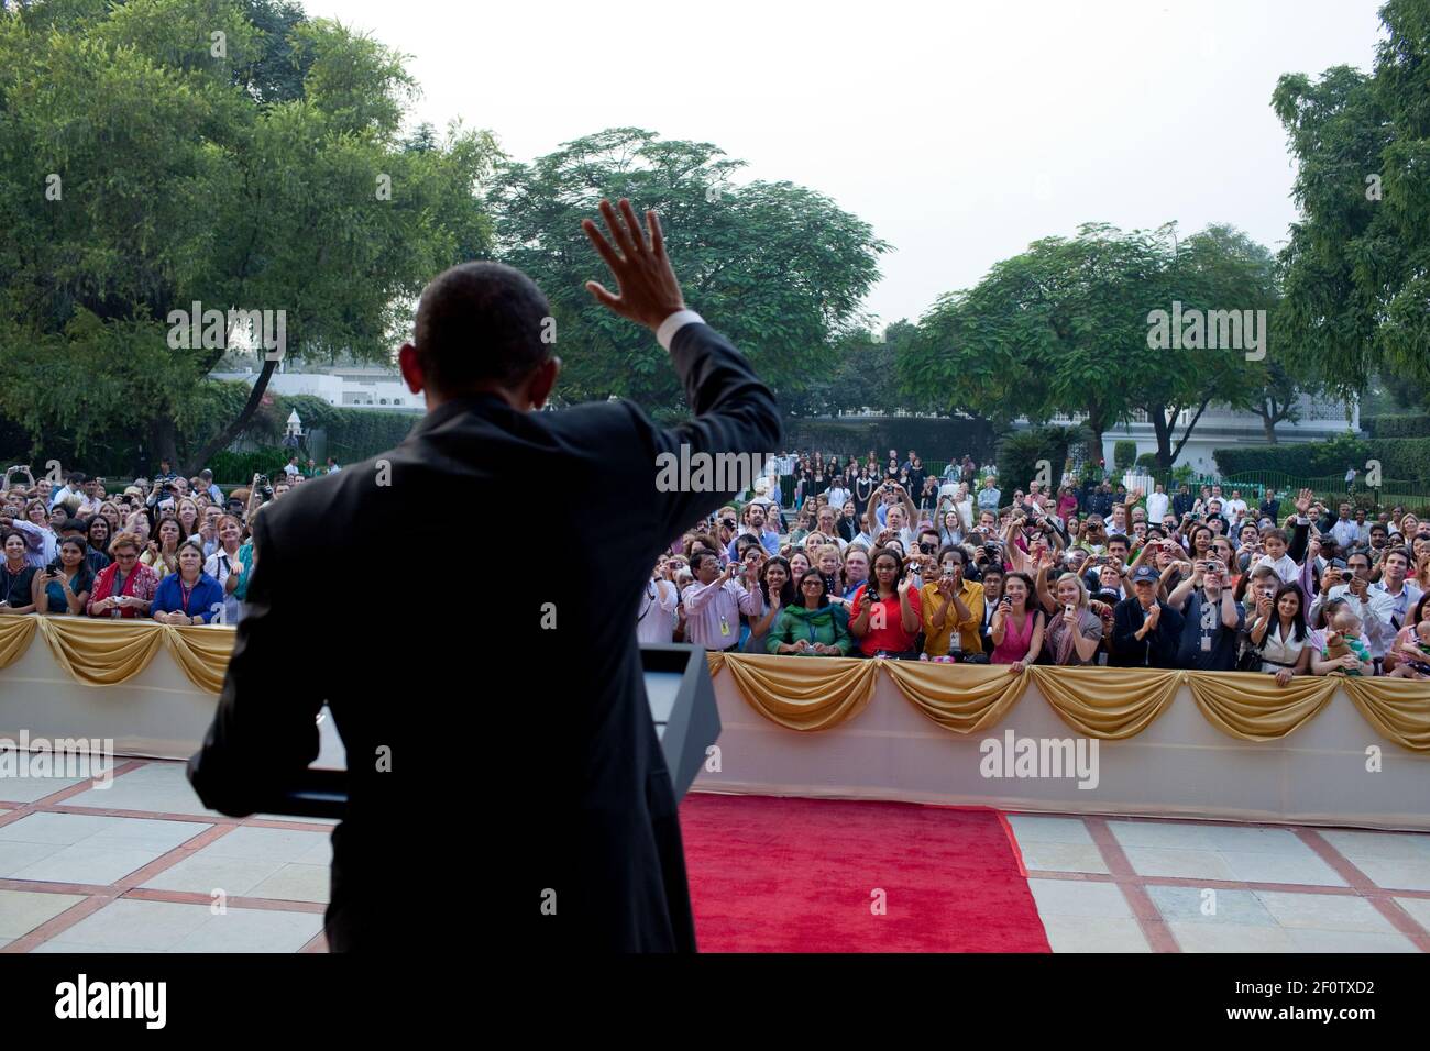
[[[323,952],[333,822],[180,762],[0,782],[0,952]],[[1426,952],[1430,834],[1010,814],[1054,952]]]

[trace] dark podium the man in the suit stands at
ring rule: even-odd
[[[645,695],[665,765],[681,799],[701,772],[705,749],[719,738],[719,711],[705,651],[688,645],[641,646]],[[285,792],[270,814],[337,818],[347,809],[347,771],[309,766],[300,785]]]

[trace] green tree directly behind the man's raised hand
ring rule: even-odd
[[[828,197],[791,183],[735,186],[744,162],[711,143],[613,127],[528,164],[502,166],[489,206],[500,259],[546,293],[563,399],[628,396],[678,405],[665,352],[585,290],[601,260],[581,220],[602,197],[654,207],[685,299],[781,393],[832,375],[832,342],[858,320],[888,246]]]

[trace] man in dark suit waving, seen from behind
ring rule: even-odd
[[[635,621],[656,553],[731,493],[669,492],[656,458],[766,453],[781,425],[745,357],[685,309],[655,213],[642,229],[621,209],[601,204],[611,240],[583,223],[618,295],[586,287],[671,352],[692,422],[662,429],[629,402],[535,412],[561,367],[546,299],[466,263],[426,287],[400,352],[426,418],[256,518],[247,612],[189,775],[223,814],[273,806],[329,702],[349,769],[336,951],[695,947]],[[513,525],[532,478],[562,480],[555,568]],[[297,639],[326,658],[276,661]],[[460,902],[456,925],[425,915],[438,897],[448,917]]]

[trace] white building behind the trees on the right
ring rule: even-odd
[[[1276,440],[1280,445],[1297,445],[1306,442],[1328,442],[1333,438],[1351,436],[1360,432],[1360,406],[1347,405],[1340,400],[1321,400],[1301,395],[1301,419],[1298,423],[1281,420],[1276,425]],[[1187,425],[1195,416],[1195,409],[1188,409],[1177,418],[1173,428],[1171,448],[1177,448]],[[1075,416],[1057,416],[1050,423],[1070,426],[1081,423],[1087,413]],[[1020,428],[1027,426],[1025,420],[1018,422]],[[1114,463],[1114,448],[1118,442],[1137,442],[1137,455],[1157,452],[1157,432],[1147,419],[1147,413],[1138,410],[1130,423],[1110,428],[1103,435],[1103,459],[1108,466]],[[1191,438],[1181,449],[1181,456],[1173,466],[1188,465],[1198,475],[1216,475],[1217,462],[1211,453],[1216,449],[1230,449],[1233,446],[1266,446],[1266,429],[1261,418],[1251,412],[1228,409],[1226,406],[1207,406],[1191,432]]]

